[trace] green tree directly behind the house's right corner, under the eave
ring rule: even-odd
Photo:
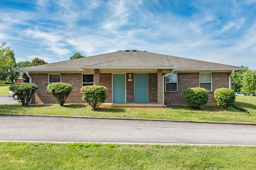
[[[245,67],[245,66],[241,66],[243,68],[248,68],[248,67]],[[243,80],[243,73],[247,71],[247,70],[242,70],[242,71],[236,71],[231,79],[231,84],[232,84],[232,90],[234,90],[235,92],[241,92],[241,88],[243,86],[242,84],[242,80]]]

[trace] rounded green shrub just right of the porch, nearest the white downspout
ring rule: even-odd
[[[204,88],[187,88],[183,91],[182,96],[187,105],[192,108],[200,108],[202,104],[208,101],[208,91]]]

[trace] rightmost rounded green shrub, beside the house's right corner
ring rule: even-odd
[[[219,106],[227,108],[232,106],[236,101],[234,90],[229,88],[219,88],[214,91],[214,98]]]

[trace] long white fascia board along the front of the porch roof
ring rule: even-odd
[[[114,66],[82,66],[82,69],[175,69],[173,66],[134,66],[134,67],[114,67]]]

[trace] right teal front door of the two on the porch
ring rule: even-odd
[[[148,75],[135,74],[135,102],[148,102]]]

